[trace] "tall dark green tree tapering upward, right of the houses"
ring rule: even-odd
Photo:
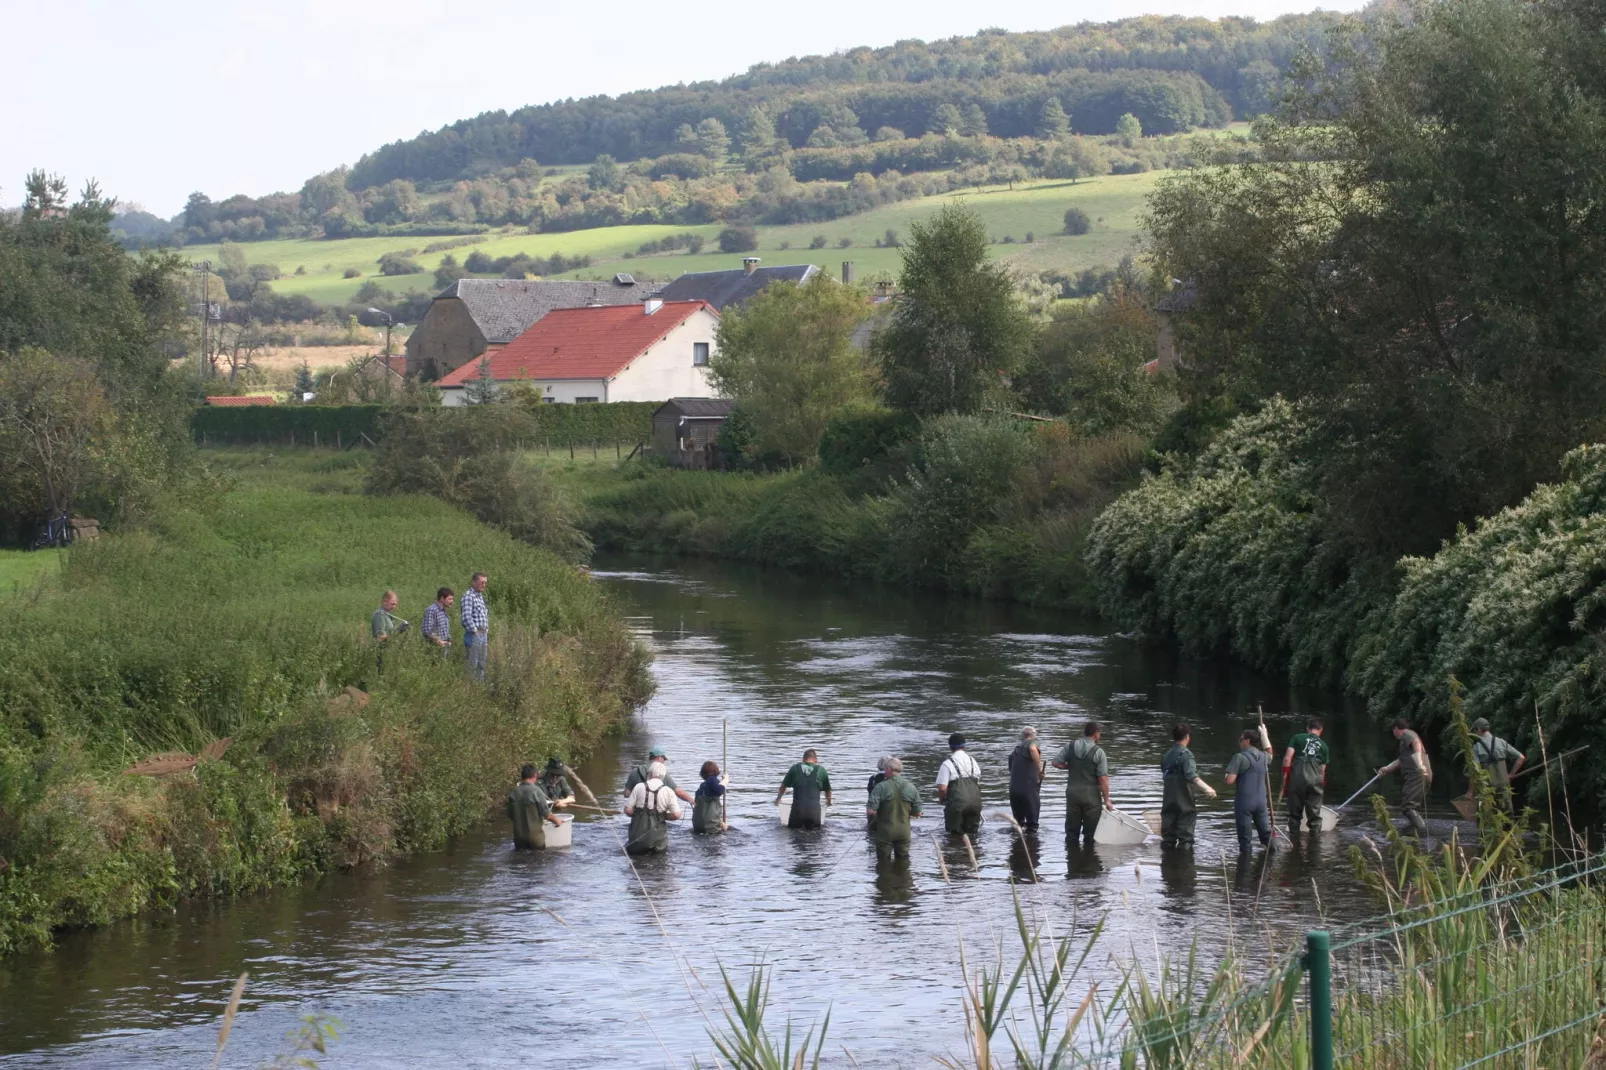
[[[1001,395],[1033,342],[1033,325],[1009,272],[988,262],[988,231],[949,204],[909,223],[903,297],[870,344],[891,408],[975,413]]]

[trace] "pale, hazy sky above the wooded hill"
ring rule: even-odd
[[[761,5],[525,0],[0,0],[0,206],[35,169],[173,215],[299,190],[387,141],[482,111],[721,79],[755,63],[984,26],[1042,31],[1134,14],[1259,19],[1291,0],[960,0]],[[1349,10],[1359,3],[1320,6]],[[40,32],[27,31],[37,24]]]

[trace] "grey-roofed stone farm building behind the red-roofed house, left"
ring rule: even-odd
[[[630,275],[610,283],[459,278],[429,302],[406,341],[406,374],[438,379],[514,341],[554,308],[639,304],[646,288]]]

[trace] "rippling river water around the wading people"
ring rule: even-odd
[[[904,758],[930,800],[948,734],[964,731],[989,811],[1007,810],[1004,762],[1020,726],[1036,725],[1049,752],[1097,717],[1115,802],[1139,813],[1158,805],[1174,720],[1195,725],[1201,771],[1221,789],[1256,704],[1278,747],[1304,713],[1328,715],[1328,795],[1339,800],[1392,741],[1336,696],[1290,692],[1065,614],[728,564],[601,564],[597,582],[655,652],[658,691],[580,773],[617,798],[657,742],[694,787],[728,721],[732,832],[691,835],[687,808],[670,853],[633,869],[623,818],[581,816],[575,847],[544,855],[514,855],[503,823],[488,823],[385,869],[72,933],[50,954],[0,962],[0,1064],[207,1065],[233,980],[249,970],[230,1067],[284,1051],[307,1014],[340,1022],[329,1067],[708,1065],[719,967],[745,985],[768,962],[777,1019],[806,1027],[830,1012],[829,1064],[928,1067],[964,1043],[960,933],[972,962],[1013,940],[1012,877],[1062,932],[1105,922],[1086,975],[1105,991],[1124,962],[1153,966],[1195,941],[1214,959],[1229,938],[1253,956],[1323,917],[1376,909],[1347,861],[1368,829],[1360,805],[1344,829],[1269,868],[1237,858],[1227,792],[1204,805],[1192,860],[1163,858],[1153,840],[1066,852],[1063,774],[1044,789],[1039,843],[1028,850],[989,819],[976,868],[962,845],[943,845],[948,879],[930,802],[906,872],[878,872],[864,834],[864,784],[883,752]],[[805,747],[837,792],[817,832],[781,827],[769,805]]]

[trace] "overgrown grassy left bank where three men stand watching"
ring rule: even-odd
[[[585,750],[644,699],[639,647],[551,554],[432,500],[361,495],[358,455],[207,459],[223,485],[75,548],[45,598],[6,604],[0,953],[437,847],[520,762]],[[413,636],[381,675],[366,639],[381,591],[418,622],[477,569],[487,686]],[[191,771],[124,774],[223,739]]]

